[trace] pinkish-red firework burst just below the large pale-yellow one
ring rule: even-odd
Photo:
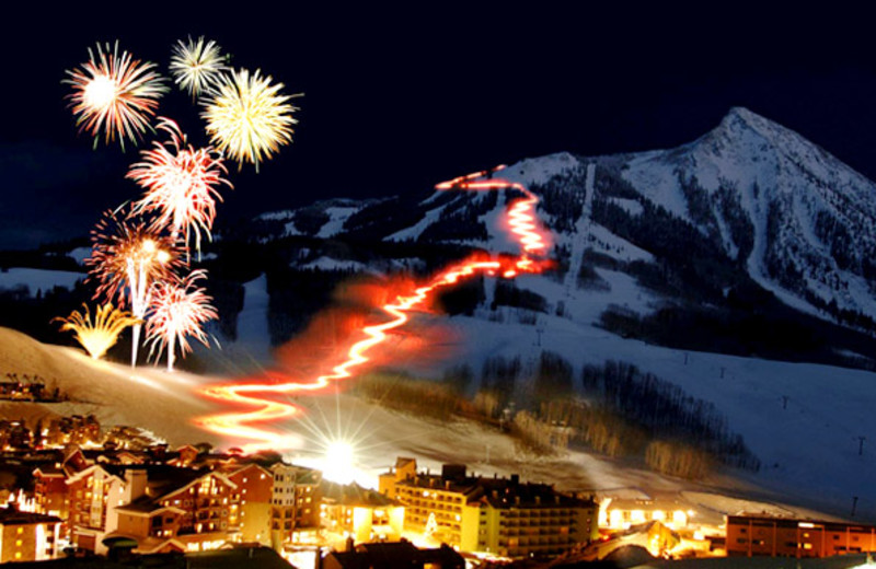
[[[222,199],[216,186],[231,187],[231,183],[222,177],[226,167],[211,147],[195,150],[186,144],[185,135],[171,119],[160,118],[158,128],[168,132],[170,141],[140,152],[142,162],[131,165],[127,174],[147,189],[131,212],[157,211],[152,229],[168,227],[174,239],[183,234],[186,244],[194,233],[200,254],[201,231],[210,237],[216,200]]]

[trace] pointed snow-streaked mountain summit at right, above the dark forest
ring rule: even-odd
[[[799,135],[734,108],[693,143],[621,170],[788,303],[876,315],[876,186]]]

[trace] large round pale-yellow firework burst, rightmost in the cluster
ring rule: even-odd
[[[291,114],[298,111],[283,95],[283,83],[262,77],[256,70],[232,71],[222,76],[216,92],[206,102],[201,116],[207,120],[207,133],[217,150],[238,162],[255,165],[267,160],[283,144],[292,141],[292,125],[298,120]]]

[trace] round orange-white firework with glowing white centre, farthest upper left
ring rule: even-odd
[[[118,42],[112,48],[108,43],[99,43],[96,51],[89,48],[89,60],[67,70],[70,78],[64,81],[73,86],[68,98],[79,131],[89,131],[95,147],[101,130],[107,144],[118,139],[124,149],[125,138],[136,143],[151,129],[158,100],[168,91],[154,69],[154,63],[140,62],[128,51],[119,54]]]

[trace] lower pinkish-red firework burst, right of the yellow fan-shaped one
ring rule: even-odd
[[[205,346],[209,345],[201,324],[219,315],[210,305],[212,299],[203,288],[195,286],[196,280],[205,277],[204,270],[195,270],[180,282],[155,284],[146,336],[151,344],[150,357],[157,353],[157,359],[160,359],[166,348],[168,371],[173,371],[176,342],[180,344],[180,352],[183,355],[192,351],[188,336],[194,336]]]

